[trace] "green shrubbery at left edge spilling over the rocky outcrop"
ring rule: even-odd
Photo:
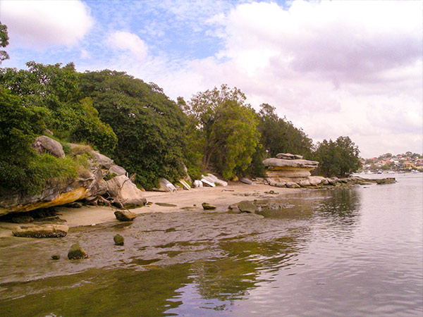
[[[0,89],[0,189],[39,193],[48,182],[74,178],[86,159],[39,156],[32,149],[44,130],[42,108],[25,107],[17,96]]]

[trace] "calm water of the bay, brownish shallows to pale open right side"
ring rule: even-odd
[[[263,216],[145,214],[0,239],[0,316],[422,316],[423,178],[393,176],[279,197]],[[77,241],[90,259],[65,259]]]

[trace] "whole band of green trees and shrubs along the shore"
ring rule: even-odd
[[[5,47],[6,28],[0,35]],[[48,180],[77,175],[85,154],[58,159],[32,149],[47,132],[65,152],[80,143],[110,156],[145,189],[159,178],[178,180],[185,168],[192,178],[204,171],[227,180],[264,176],[263,159],[278,153],[319,161],[317,173],[325,176],[361,166],[349,137],[313,144],[274,106],[255,111],[227,85],[173,101],[156,84],[114,70],[79,73],[73,63],[35,61],[25,70],[0,68],[0,189],[36,193]]]

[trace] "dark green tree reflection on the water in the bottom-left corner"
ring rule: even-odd
[[[189,282],[188,264],[149,271],[91,270],[75,275],[10,283],[25,297],[0,300],[2,316],[161,316],[182,301],[178,289]],[[8,290],[9,285],[1,285]],[[27,294],[27,291],[33,294]],[[54,314],[54,315],[53,315]]]

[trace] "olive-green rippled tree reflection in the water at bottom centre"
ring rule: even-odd
[[[234,239],[220,242],[219,247],[225,252],[223,258],[192,264],[198,292],[204,299],[243,299],[249,290],[258,286],[258,282],[264,281],[259,279],[262,273],[294,265],[293,259],[303,247],[299,240],[304,232],[309,229],[300,228],[291,232],[295,235],[284,235],[271,241]],[[252,238],[260,239],[257,236]]]

